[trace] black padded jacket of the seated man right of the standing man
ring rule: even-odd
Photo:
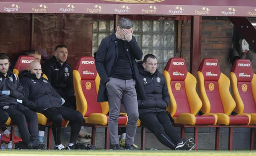
[[[146,100],[138,100],[139,113],[162,112],[170,103],[170,96],[163,74],[156,72],[151,75],[138,63],[140,71],[140,83],[146,92]]]

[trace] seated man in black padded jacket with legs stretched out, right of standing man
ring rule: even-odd
[[[138,62],[140,82],[144,85],[146,100],[138,100],[139,119],[156,138],[172,150],[193,150],[194,139],[181,139],[173,128],[166,107],[169,105],[170,96],[163,74],[156,69],[157,59],[153,54],[144,56]]]

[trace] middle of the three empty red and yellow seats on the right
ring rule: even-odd
[[[236,103],[230,94],[230,80],[220,71],[217,59],[205,58],[202,60],[197,75],[198,93],[202,100],[202,113],[217,114],[217,124],[250,124],[248,114],[230,115]]]

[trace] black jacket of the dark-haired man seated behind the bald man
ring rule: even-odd
[[[67,62],[61,66],[55,56],[46,60],[42,65],[42,72],[46,74],[53,88],[63,97],[74,95],[73,71]]]

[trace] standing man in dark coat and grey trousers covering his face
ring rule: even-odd
[[[136,60],[142,58],[136,39],[132,36],[132,21],[120,18],[116,31],[111,36],[102,39],[96,54],[96,68],[100,75],[98,102],[108,101],[109,104],[109,135],[111,149],[119,150],[118,117],[120,104],[128,114],[125,148],[135,150],[134,136],[138,120],[137,96],[145,98],[145,94],[137,95],[135,86],[143,92],[143,86],[138,85],[138,67]]]

